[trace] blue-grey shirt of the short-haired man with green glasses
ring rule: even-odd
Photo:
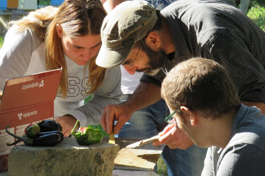
[[[208,148],[201,175],[265,175],[265,115],[258,108],[241,104],[228,145]]]

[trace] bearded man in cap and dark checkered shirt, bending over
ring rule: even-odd
[[[97,65],[123,65],[130,74],[144,72],[126,103],[105,107],[101,124],[108,133],[114,118],[114,133],[118,134],[133,112],[158,101],[166,73],[191,57],[205,57],[224,65],[241,102],[265,113],[265,33],[226,3],[180,0],[160,13],[145,1],[126,1],[104,19],[101,39]],[[185,175],[198,175],[202,167],[192,163],[203,166],[205,150],[195,147],[176,124],[168,125],[160,135],[153,145],[163,143],[189,151],[193,155],[179,156],[174,162],[191,165]]]

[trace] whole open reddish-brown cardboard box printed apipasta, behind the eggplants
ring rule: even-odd
[[[15,138],[5,128],[22,136],[29,124],[54,119],[54,99],[61,77],[61,69],[8,79],[0,102],[0,172],[8,169],[11,148],[6,143]],[[18,143],[21,145],[23,142]]]

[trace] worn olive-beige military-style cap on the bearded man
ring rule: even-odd
[[[96,64],[105,68],[121,65],[135,42],[145,37],[156,21],[156,9],[147,1],[125,1],[116,6],[103,21]]]

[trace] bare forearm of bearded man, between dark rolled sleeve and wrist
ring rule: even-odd
[[[134,93],[126,101],[125,105],[130,106],[134,111],[152,105],[161,98],[160,87],[153,83],[141,82]]]

